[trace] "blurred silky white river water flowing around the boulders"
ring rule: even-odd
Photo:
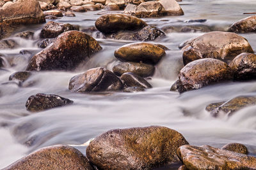
[[[184,0],[180,3],[184,16],[145,18],[148,24],[164,29],[168,26],[188,24],[191,19],[207,19],[199,23],[214,30],[227,27],[248,17],[244,12],[256,12],[255,0],[207,1]],[[57,22],[77,24],[81,29],[94,25],[100,11],[76,13],[76,18],[63,17]],[[191,23],[190,25],[198,25]],[[170,92],[172,83],[183,67],[182,52],[178,46],[182,41],[200,36],[204,32],[166,31],[166,38],[157,41],[170,48],[157,64],[156,73],[148,80],[153,89],[135,94],[115,92],[80,94],[70,92],[68,83],[72,76],[87,69],[106,66],[112,69],[119,61],[113,53],[116,48],[132,41],[103,39],[95,35],[103,50],[81,64],[76,71],[51,71],[35,74],[29,78],[32,87],[19,87],[8,82],[15,71],[24,70],[31,55],[20,55],[20,50],[33,53],[37,47],[38,34],[42,25],[22,27],[19,31],[36,31],[34,40],[13,38],[19,47],[0,50],[6,67],[0,70],[0,167],[5,167],[37,148],[56,144],[80,145],[109,129],[164,125],[182,133],[192,145],[220,147],[238,142],[248,146],[252,155],[256,153],[256,106],[237,111],[232,117],[212,118],[205,106],[218,101],[227,101],[240,95],[256,95],[256,81],[230,82],[211,85],[200,90],[179,94]],[[166,30],[166,29],[165,29]],[[256,50],[256,34],[241,34]],[[156,41],[155,41],[156,42]],[[155,43],[154,42],[154,43]],[[9,62],[9,64],[7,63]],[[37,93],[57,94],[72,99],[74,104],[39,113],[26,111],[29,96]],[[84,148],[82,149],[84,153]]]

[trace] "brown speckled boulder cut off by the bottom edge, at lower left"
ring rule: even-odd
[[[92,170],[88,159],[76,148],[67,145],[54,145],[40,148],[4,168],[11,169],[74,169]]]

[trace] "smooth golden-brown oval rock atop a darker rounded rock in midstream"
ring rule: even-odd
[[[132,62],[157,64],[165,55],[163,48],[151,43],[131,43],[115,50],[115,57]]]

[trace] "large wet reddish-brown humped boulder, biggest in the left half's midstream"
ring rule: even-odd
[[[81,31],[63,32],[56,41],[30,60],[26,71],[72,70],[102,47]]]

